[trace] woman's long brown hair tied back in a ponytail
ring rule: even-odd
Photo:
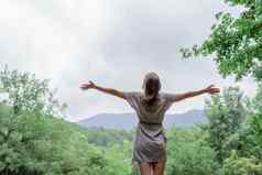
[[[144,89],[143,101],[153,105],[161,90],[161,81],[157,74],[151,72],[144,76],[142,88]]]

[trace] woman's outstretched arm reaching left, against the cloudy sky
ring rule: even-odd
[[[122,91],[120,90],[117,90],[117,89],[112,89],[112,88],[105,88],[105,87],[101,87],[101,86],[97,86],[95,83],[92,81],[89,81],[88,84],[85,83],[85,84],[81,84],[80,88],[83,90],[87,90],[87,89],[96,89],[96,90],[99,90],[99,91],[102,91],[102,92],[106,92],[108,95],[112,95],[112,96],[117,96],[119,98],[122,98],[122,99],[125,99],[124,95]]]

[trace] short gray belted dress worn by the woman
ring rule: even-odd
[[[175,101],[175,94],[160,92],[156,102],[149,107],[143,102],[143,92],[124,92],[127,101],[135,110],[139,123],[133,143],[132,162],[153,163],[166,161],[166,136],[163,119]]]

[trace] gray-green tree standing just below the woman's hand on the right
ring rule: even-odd
[[[206,116],[209,121],[207,124],[208,141],[215,149],[220,164],[229,156],[231,149],[225,143],[238,133],[245,120],[247,112],[242,100],[239,88],[229,87],[223,90],[222,95],[212,96],[206,101]]]

